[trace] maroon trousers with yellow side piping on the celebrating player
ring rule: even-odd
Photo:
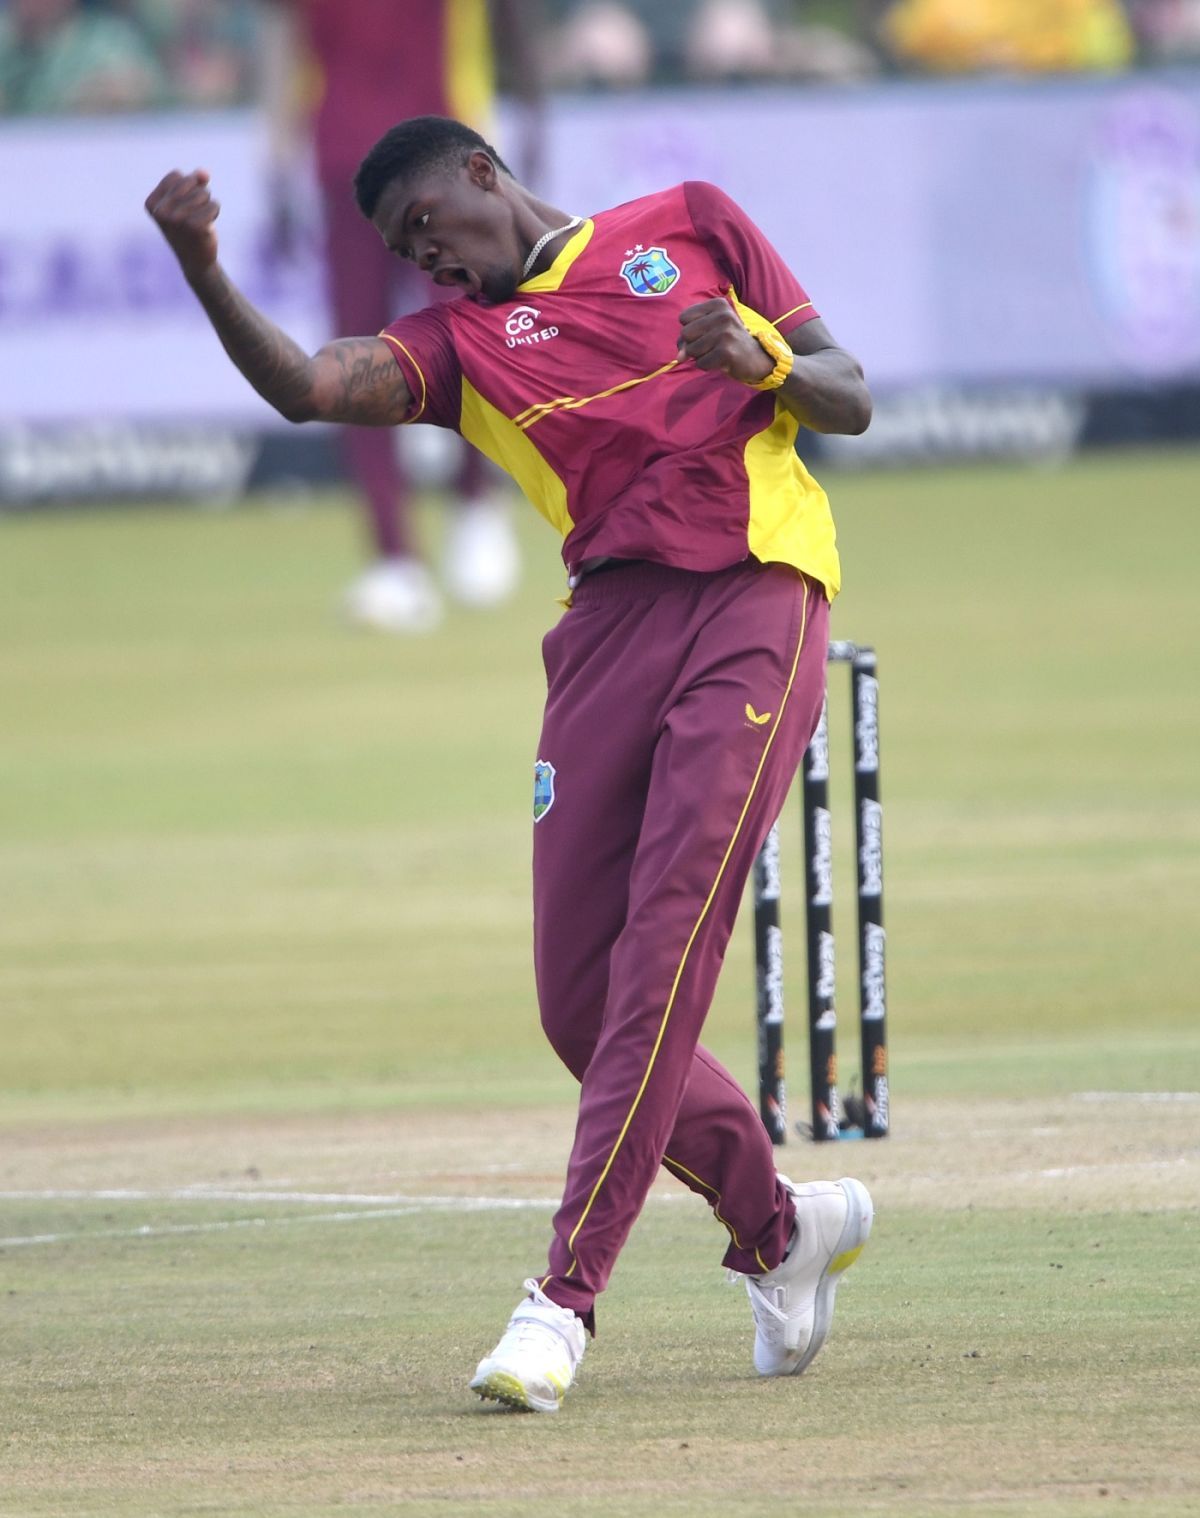
[[[827,644],[821,586],[755,560],[601,569],[543,642],[534,964],[542,1025],[583,1088],[542,1289],[589,1328],[660,1164],[725,1225],[731,1269],[768,1271],[787,1246],[759,1113],[698,1041],[816,727]]]

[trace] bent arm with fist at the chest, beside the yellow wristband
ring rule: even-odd
[[[765,380],[775,367],[728,301],[701,301],[680,313],[680,358],[698,369],[719,369],[742,384]],[[865,433],[871,392],[862,366],[839,348],[818,317],[784,335],[795,354],[792,372],[772,393],[813,433]],[[786,355],[784,355],[786,357]]]

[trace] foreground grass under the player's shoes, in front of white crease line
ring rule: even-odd
[[[789,1492],[815,1513],[1076,1513],[1101,1489],[1195,1510],[1194,1216],[1153,1224],[1151,1277],[1136,1214],[886,1214],[822,1359],[759,1383],[699,1213],[649,1208],[555,1419],[463,1397],[511,1305],[514,1214],[488,1220],[484,1281],[457,1216],[26,1251],[0,1512],[718,1515]]]

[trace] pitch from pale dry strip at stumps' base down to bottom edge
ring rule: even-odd
[[[9,1131],[0,1513],[1197,1510],[1195,1094],[795,1142],[878,1208],[796,1381],[754,1378],[664,1178],[564,1410],[484,1409],[569,1142],[564,1108]]]

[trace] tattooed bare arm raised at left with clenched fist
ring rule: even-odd
[[[381,337],[343,337],[309,355],[256,310],[217,263],[220,205],[208,172],[170,173],[146,200],[184,278],[241,373],[288,422],[394,427],[411,393]]]

